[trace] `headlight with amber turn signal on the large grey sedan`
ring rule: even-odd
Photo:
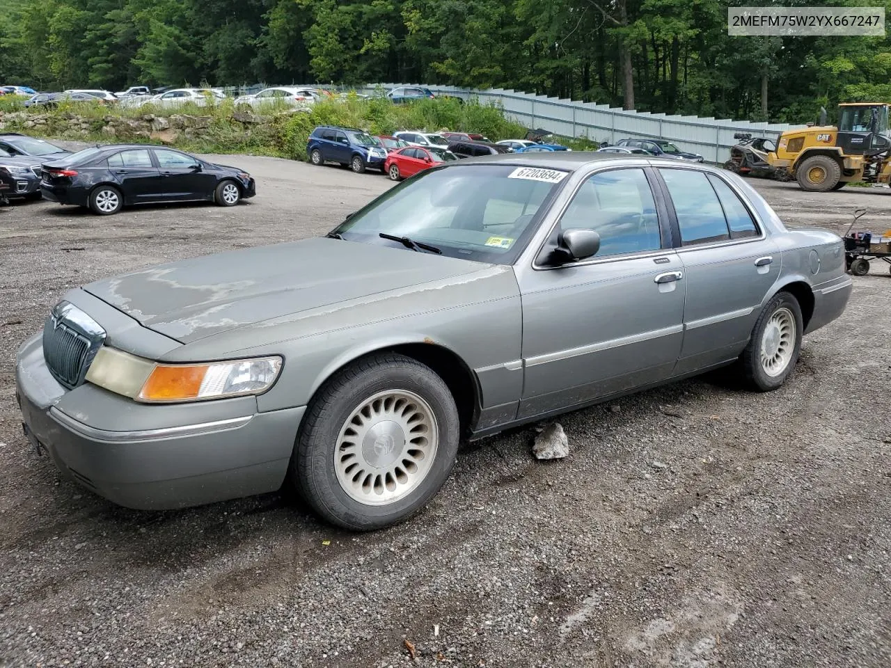
[[[169,403],[259,395],[273,386],[282,358],[259,357],[200,364],[153,363],[104,346],[86,380],[138,402]]]

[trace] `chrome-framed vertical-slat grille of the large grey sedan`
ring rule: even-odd
[[[71,389],[84,381],[86,370],[105,340],[105,331],[68,302],[61,302],[44,326],[44,359],[53,377]]]

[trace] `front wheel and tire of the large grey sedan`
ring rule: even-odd
[[[407,425],[408,435],[418,434],[408,442]],[[290,479],[332,524],[380,529],[412,517],[439,491],[459,436],[454,399],[434,371],[401,354],[370,355],[339,371],[309,403]]]

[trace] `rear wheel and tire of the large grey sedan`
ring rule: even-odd
[[[740,355],[742,377],[749,389],[771,392],[786,382],[798,361],[804,330],[798,300],[789,292],[774,295]]]

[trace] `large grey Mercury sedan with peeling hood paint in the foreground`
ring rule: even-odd
[[[459,440],[733,365],[780,387],[851,293],[837,235],[729,172],[593,153],[433,167],[326,237],[72,289],[20,348],[38,451],[169,509],[293,485],[389,525]]]

